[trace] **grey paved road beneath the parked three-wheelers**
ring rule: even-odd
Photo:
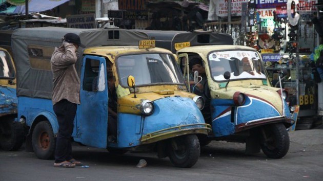
[[[278,160],[262,152],[246,155],[245,144],[212,142],[190,169],[173,167],[153,153],[114,156],[105,149],[73,145],[76,159],[88,168],[54,168],[34,153],[0,150],[0,180],[322,180],[323,129],[290,132],[288,154]],[[136,168],[140,159],[147,167]]]

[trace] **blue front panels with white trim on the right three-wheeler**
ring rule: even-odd
[[[214,108],[211,117],[215,137],[235,133],[236,125],[239,124],[282,116],[270,103],[252,97],[247,97],[245,104],[241,106],[235,106],[232,99],[212,99],[211,106]],[[289,118],[290,110],[286,101],[284,109],[286,117]]]

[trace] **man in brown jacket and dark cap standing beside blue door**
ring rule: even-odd
[[[76,51],[84,47],[77,34],[64,35],[62,46],[56,47],[51,58],[53,73],[53,109],[58,121],[54,167],[72,168],[82,165],[73,159],[71,135],[79,100],[80,80],[75,69]]]

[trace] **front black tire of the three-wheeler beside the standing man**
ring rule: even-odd
[[[200,154],[200,145],[195,134],[172,138],[167,149],[171,163],[180,168],[192,167]]]

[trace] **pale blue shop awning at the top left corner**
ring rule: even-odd
[[[47,11],[50,9],[53,9],[59,5],[62,5],[66,2],[68,2],[70,0],[30,0],[29,1],[29,13],[33,13],[33,12],[42,12],[42,11]],[[8,3],[10,3],[9,1],[7,1]],[[14,14],[25,14],[25,5],[22,6],[15,6],[15,9],[12,11],[12,8],[14,6],[11,7],[11,10],[8,11],[8,14],[14,13]],[[3,13],[3,12],[0,12]]]

